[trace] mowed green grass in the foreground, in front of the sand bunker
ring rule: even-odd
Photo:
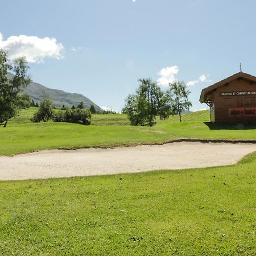
[[[1,181],[0,254],[255,255],[255,166]]]

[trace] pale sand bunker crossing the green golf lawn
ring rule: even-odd
[[[251,143],[175,142],[155,146],[40,151],[0,156],[0,180],[121,174],[234,164]]]

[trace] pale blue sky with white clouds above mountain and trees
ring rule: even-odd
[[[254,0],[1,1],[0,48],[26,56],[35,82],[120,111],[138,79],[201,90],[242,71],[256,76]],[[5,11],[3,11],[5,10]]]

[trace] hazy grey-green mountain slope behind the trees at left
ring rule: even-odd
[[[8,73],[9,78],[13,76],[14,75],[12,73]],[[64,90],[47,88],[46,86],[38,84],[37,82],[31,82],[24,89],[24,92],[27,92],[35,102],[42,100],[43,96],[45,95],[46,97],[52,99],[53,105],[55,105],[56,108],[61,108],[63,105],[66,107],[71,107],[72,105],[77,106],[82,101],[84,102],[84,107],[86,109],[89,109],[90,105],[94,105],[96,110],[102,111],[98,105],[82,94],[68,93],[64,92]]]

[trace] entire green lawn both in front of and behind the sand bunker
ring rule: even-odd
[[[0,128],[0,154],[46,148],[255,140],[255,125],[207,125],[207,111],[135,127],[126,115],[92,125]],[[5,167],[3,167],[5,168]],[[140,174],[0,181],[0,255],[256,255],[256,152],[233,166]]]

